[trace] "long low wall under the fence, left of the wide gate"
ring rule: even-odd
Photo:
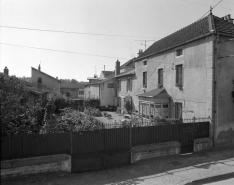
[[[49,171],[70,172],[70,155],[60,154],[1,161],[1,177]]]

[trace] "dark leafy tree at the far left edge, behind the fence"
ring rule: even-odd
[[[15,76],[0,73],[0,122],[4,131],[12,120],[22,113],[20,101],[27,95],[27,90]]]

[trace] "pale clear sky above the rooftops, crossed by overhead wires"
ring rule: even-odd
[[[149,47],[219,1],[0,0],[0,71],[7,66],[10,75],[30,77],[41,64],[53,77],[87,81],[104,65],[114,71],[117,60],[137,57],[142,40]],[[234,1],[223,0],[213,14],[234,18]]]

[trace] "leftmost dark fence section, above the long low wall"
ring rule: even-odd
[[[70,133],[1,137],[1,160],[70,154]]]

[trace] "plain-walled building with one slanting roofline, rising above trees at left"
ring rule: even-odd
[[[31,69],[31,82],[37,83],[38,78],[41,78],[43,84],[47,87],[53,89],[56,92],[60,92],[61,81],[58,78],[54,78],[41,71],[41,66],[38,66],[38,69],[32,67]]]

